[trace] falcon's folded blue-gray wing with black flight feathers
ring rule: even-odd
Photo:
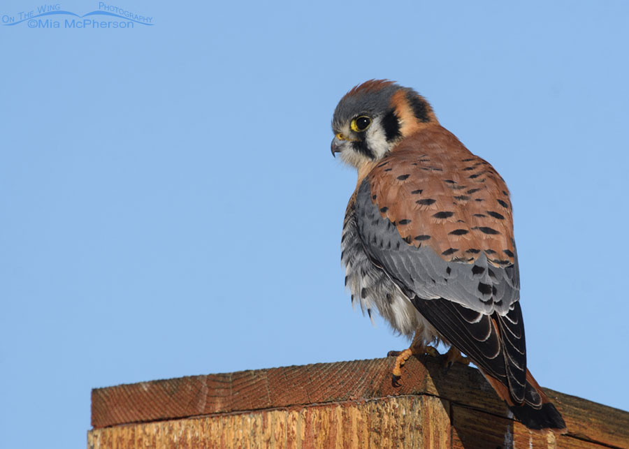
[[[508,385],[514,399],[523,400],[526,344],[514,244],[513,263],[492,262],[485,251],[469,260],[446,260],[447,254],[435,252],[435,244],[421,244],[428,239],[403,235],[407,221],[421,220],[421,211],[398,212],[410,218],[391,221],[386,214],[390,207],[377,203],[384,197],[386,191],[374,193],[368,179],[356,192],[356,228],[374,265],[400,287],[445,339]],[[398,205],[398,210],[403,208]],[[439,235],[440,226],[428,221],[420,235]],[[463,223],[458,226],[462,229]]]

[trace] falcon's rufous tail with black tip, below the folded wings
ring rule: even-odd
[[[481,372],[496,390],[498,396],[507,403],[514,417],[523,425],[533,430],[551,429],[560,434],[567,432],[561,413],[551,404],[550,399],[544,394],[528,369],[526,370],[524,400],[519,404],[514,402],[512,396],[509,395],[509,389],[503,383],[497,378],[489,376],[482,369]]]

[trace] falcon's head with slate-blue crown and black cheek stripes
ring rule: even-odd
[[[405,137],[437,124],[424,97],[392,81],[370,80],[345,94],[332,119],[332,154],[361,168],[377,161]]]

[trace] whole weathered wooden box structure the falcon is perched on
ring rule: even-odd
[[[482,375],[411,358],[319,363],[92,391],[89,449],[629,448],[629,413],[546,390],[568,433],[531,432]]]

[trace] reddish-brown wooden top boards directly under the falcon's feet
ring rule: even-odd
[[[92,426],[98,429],[137,422],[173,420],[387,396],[431,395],[498,417],[507,408],[477,369],[411,358],[402,385],[391,385],[394,358],[208,374],[117,385],[92,390]],[[563,414],[568,434],[624,448],[629,444],[629,413],[578,397],[545,390]]]

